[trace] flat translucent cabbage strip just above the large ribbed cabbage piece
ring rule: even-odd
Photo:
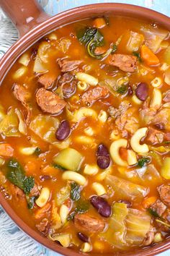
[[[105,183],[115,191],[117,200],[135,200],[140,202],[148,194],[148,188],[120,179],[116,176],[107,175]]]

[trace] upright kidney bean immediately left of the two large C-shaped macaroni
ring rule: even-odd
[[[99,168],[105,169],[109,166],[109,151],[104,144],[100,144],[97,148],[97,165]]]

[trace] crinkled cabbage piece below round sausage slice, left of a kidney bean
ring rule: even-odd
[[[58,119],[53,116],[38,115],[30,123],[30,129],[42,140],[53,143],[56,141],[55,132],[58,129]]]

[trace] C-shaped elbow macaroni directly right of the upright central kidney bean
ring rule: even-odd
[[[122,160],[120,157],[119,150],[120,148],[126,148],[128,145],[128,140],[125,139],[120,139],[120,140],[115,140],[112,142],[110,148],[109,148],[109,153],[112,157],[112,160],[117,163],[119,166],[127,166],[127,162]]]

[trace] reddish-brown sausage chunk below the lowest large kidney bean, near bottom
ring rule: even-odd
[[[89,232],[102,232],[105,227],[105,223],[101,218],[89,216],[87,213],[76,214],[74,224],[76,229]]]

